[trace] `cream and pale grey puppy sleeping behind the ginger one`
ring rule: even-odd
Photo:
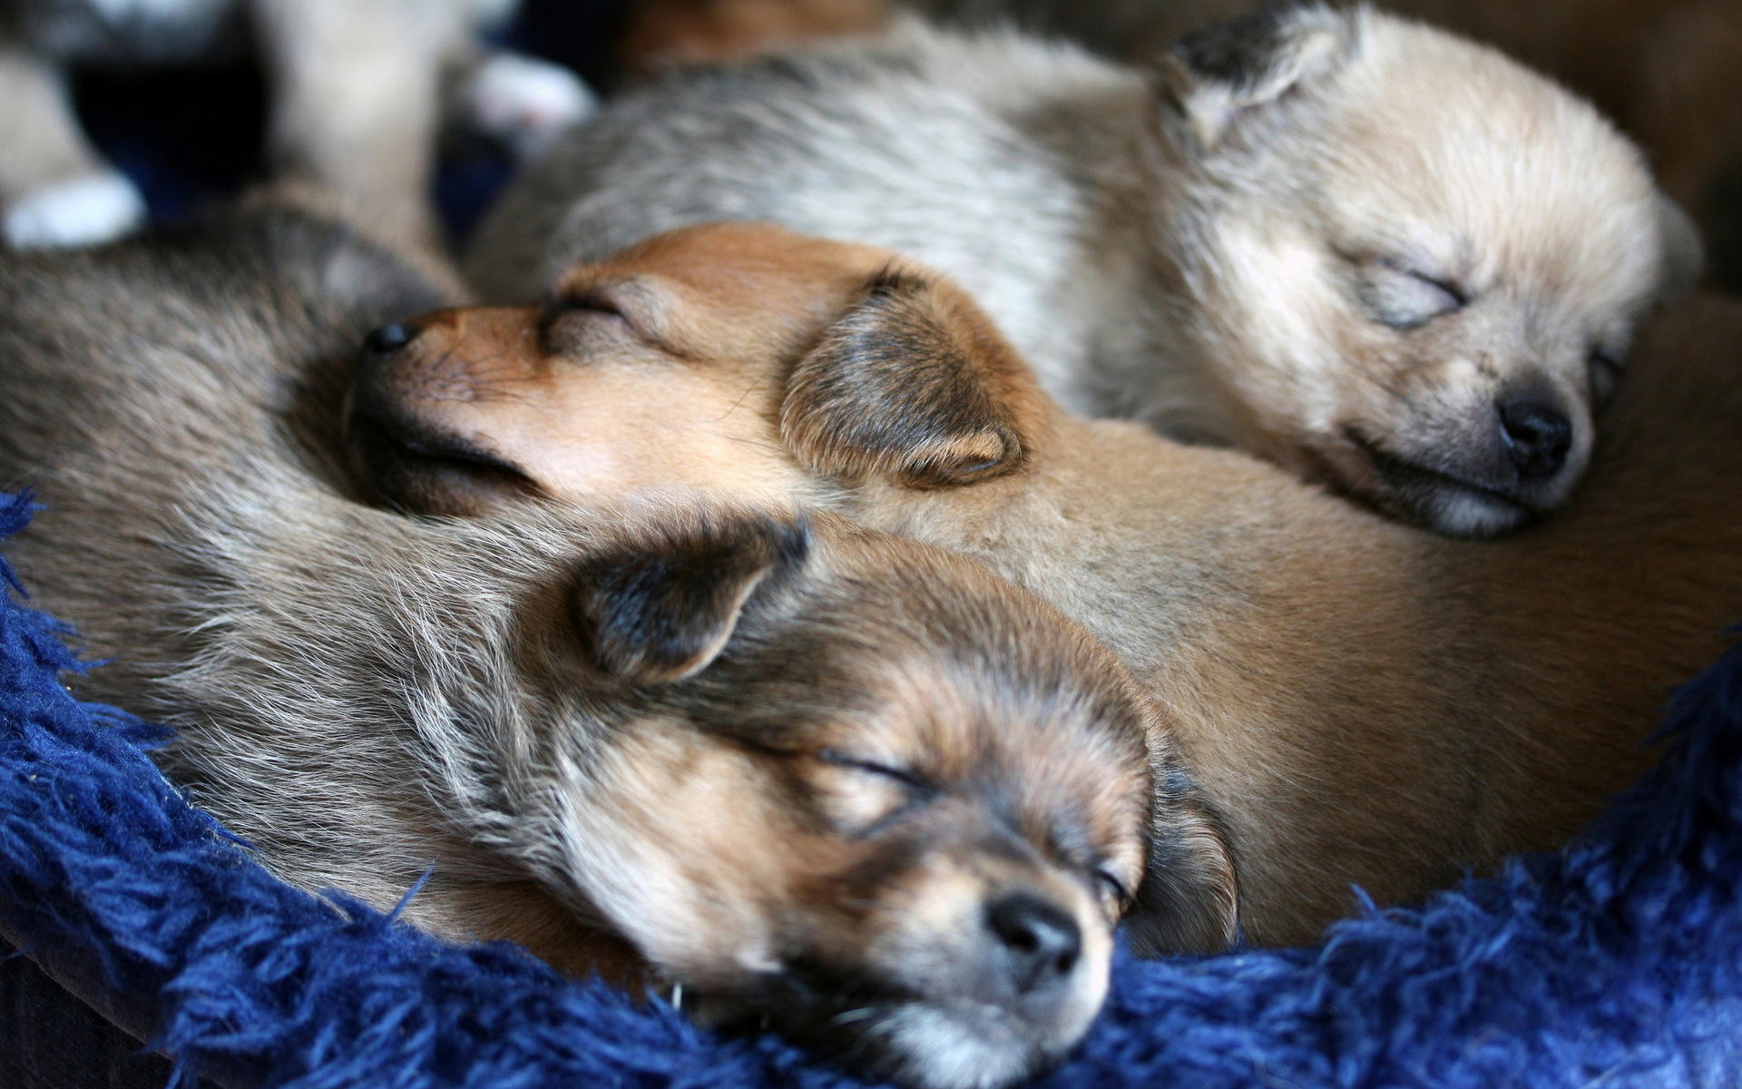
[[[706,220],[920,258],[1064,408],[1463,537],[1571,495],[1637,322],[1698,267],[1578,99],[1427,26],[1300,7],[1153,71],[906,24],[672,78],[523,176],[469,275],[524,300]]]

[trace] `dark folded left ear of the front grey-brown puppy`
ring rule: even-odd
[[[719,657],[751,592],[803,563],[803,521],[704,517],[589,558],[575,572],[575,624],[601,671],[679,681]]]

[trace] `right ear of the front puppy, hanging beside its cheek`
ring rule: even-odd
[[[1150,868],[1125,913],[1138,957],[1216,953],[1239,936],[1239,890],[1228,838],[1179,765],[1155,768]]]

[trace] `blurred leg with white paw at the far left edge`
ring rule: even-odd
[[[91,246],[145,221],[145,199],[85,141],[59,73],[0,45],[0,207],[9,246]]]

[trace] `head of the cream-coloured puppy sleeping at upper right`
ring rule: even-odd
[[[1636,326],[1698,270],[1636,148],[1498,52],[1366,9],[1190,37],[1164,92],[1223,437],[1444,533],[1564,502]]]

